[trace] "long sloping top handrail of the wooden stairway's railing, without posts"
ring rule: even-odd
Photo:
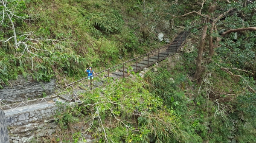
[[[186,36],[186,33],[187,33],[187,31],[185,31],[185,32],[180,36],[180,39],[183,37],[184,34],[185,34],[185,36]],[[145,56],[145,55],[148,55],[148,54],[153,53],[153,52],[155,52],[155,51],[157,51],[157,50],[166,48],[166,47],[168,47],[168,46],[170,46],[170,45],[177,44],[179,41],[181,42],[180,39],[178,39],[177,42],[173,42],[173,43],[171,43],[171,44],[169,44],[169,45],[165,45],[165,46],[163,46],[163,47],[161,47],[161,48],[158,48],[158,49],[156,49],[156,50],[153,50],[153,51],[151,51],[151,52],[149,52],[149,53],[145,53],[144,55],[138,56],[138,57],[136,57],[136,58],[134,58],[134,59],[130,59],[129,61],[126,61],[126,62],[124,62],[124,63],[122,63],[122,64],[131,62],[132,60],[135,60],[135,59],[139,59],[139,58],[141,58],[141,57],[143,57],[143,56]],[[177,47],[176,47],[176,48],[177,48]],[[103,70],[103,71],[101,71],[101,72],[99,72],[99,73],[96,73],[95,75],[98,75],[98,74],[100,74],[100,73],[103,73],[103,72],[105,72],[105,71],[108,71],[108,70],[110,70],[110,69],[112,69],[112,68],[118,67],[118,66],[120,66],[120,65],[122,65],[122,64],[118,64],[118,65],[116,65],[116,66],[114,66],[114,67],[110,67],[110,68],[108,68],[108,69],[106,69],[106,70]],[[91,75],[91,76],[95,76],[95,75]],[[84,79],[87,79],[87,78],[89,78],[89,77],[91,77],[91,76],[87,76],[87,77],[85,77],[85,78],[83,78],[83,79],[79,79],[78,81],[74,81],[74,82],[72,82],[72,83],[70,83],[70,84],[65,85],[65,87],[68,87],[68,86],[70,86],[70,85],[72,85],[72,84],[74,84],[74,83],[76,83],[76,82],[82,81],[82,80],[84,80]]]

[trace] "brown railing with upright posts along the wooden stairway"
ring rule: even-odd
[[[116,66],[110,67],[110,68],[108,68],[108,69],[106,69],[106,70],[103,70],[103,71],[101,71],[101,72],[99,72],[99,73],[96,73],[95,75],[92,75],[92,76],[93,76],[94,78],[95,78],[95,77],[96,77],[96,78],[97,78],[97,77],[101,77],[101,76],[105,76],[105,77],[110,78],[110,77],[111,77],[111,76],[110,76],[111,72],[115,71],[115,70],[117,69],[117,67],[121,67],[121,69],[122,69],[122,77],[125,77],[125,76],[128,76],[128,74],[125,72],[125,69],[126,69],[126,70],[127,70],[127,69],[131,69],[131,64],[134,64],[134,62],[135,62],[136,65],[133,65],[134,69],[132,69],[132,71],[134,71],[134,72],[136,73],[138,70],[141,70],[141,69],[140,69],[140,66],[138,65],[138,64],[139,64],[138,62],[140,62],[141,59],[147,59],[147,63],[145,63],[147,67],[150,66],[149,63],[151,63],[151,65],[152,65],[152,62],[150,62],[150,60],[149,60],[150,56],[153,56],[153,55],[157,56],[157,55],[158,55],[158,60],[155,61],[154,63],[159,62],[159,60],[161,59],[159,54],[160,54],[162,51],[168,49],[169,46],[171,46],[171,45],[176,46],[176,50],[177,50],[177,49],[182,45],[182,42],[183,42],[182,39],[186,39],[186,36],[188,36],[188,31],[185,31],[185,32],[180,36],[180,39],[178,39],[176,42],[172,42],[172,43],[169,44],[169,45],[163,46],[163,47],[161,47],[161,48],[159,48],[159,49],[156,49],[156,50],[153,50],[153,51],[151,51],[151,52],[149,52],[149,53],[146,53],[146,54],[143,54],[143,55],[141,55],[141,56],[138,56],[137,58],[130,59],[130,60],[128,60],[128,61],[126,61],[126,62],[124,62],[124,63],[122,63],[122,64],[118,64],[118,65],[116,65]],[[173,47],[173,46],[172,46],[172,47]],[[168,56],[169,56],[169,49],[167,50],[167,57],[168,57]],[[153,64],[154,64],[154,63],[153,63]],[[72,83],[70,83],[70,84],[65,85],[65,87],[69,87],[69,86],[71,86],[71,85],[73,85],[73,84],[75,84],[75,83],[77,83],[77,82],[79,82],[79,81],[83,81],[84,79],[90,78],[90,77],[92,77],[92,76],[87,76],[87,77],[85,77],[85,78],[83,78],[83,79],[79,79],[78,81],[74,81],[74,82],[72,82]],[[92,83],[92,78],[90,78],[90,83]]]

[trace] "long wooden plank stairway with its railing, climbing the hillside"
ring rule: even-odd
[[[163,59],[166,59],[169,56],[174,55],[177,53],[178,49],[183,45],[183,43],[186,40],[186,37],[189,35],[188,31],[182,31],[180,34],[177,35],[177,37],[173,40],[173,42],[163,48],[154,50],[153,52],[145,54],[144,58],[141,58],[143,56],[140,56],[138,58],[132,59],[128,62],[132,62],[131,64],[127,64],[128,62],[125,62],[123,64],[119,64],[115,67],[111,67],[107,70],[104,70],[102,72],[103,76],[99,78],[94,78],[92,82],[87,80],[87,77],[84,79],[80,79],[78,81],[75,81],[71,84],[66,85],[65,87],[68,86],[73,86],[73,95],[77,95],[79,93],[84,93],[88,90],[95,89],[97,87],[103,86],[106,82],[108,82],[108,78],[113,78],[113,79],[119,79],[122,77],[129,76],[129,73],[134,72],[136,73],[137,71],[140,71],[144,69],[145,67],[149,67],[156,62],[160,62]],[[139,59],[140,58],[140,59]],[[135,63],[134,63],[135,62]],[[126,65],[127,64],[127,65]],[[122,66],[121,69],[117,68],[118,66]],[[119,69],[115,70],[113,72],[110,72],[110,70],[113,69]],[[99,73],[96,73],[94,77],[96,77]],[[96,79],[96,80],[95,80]],[[90,84],[90,86],[88,86]]]

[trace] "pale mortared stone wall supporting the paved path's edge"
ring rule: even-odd
[[[31,123],[34,121],[41,121],[47,118],[51,118],[53,115],[55,115],[57,110],[58,110],[58,107],[54,105],[52,107],[38,109],[32,112],[23,112],[20,114],[7,116],[6,124],[8,126],[15,126],[15,125]]]

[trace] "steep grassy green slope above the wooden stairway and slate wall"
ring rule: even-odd
[[[142,3],[134,1],[8,2],[4,8],[14,12],[6,14],[15,16],[12,22],[2,17],[0,82],[21,73],[44,81],[84,77],[88,65],[100,70],[160,47],[165,42],[157,42],[155,34],[169,27],[154,13],[159,3],[146,4],[145,15]]]

